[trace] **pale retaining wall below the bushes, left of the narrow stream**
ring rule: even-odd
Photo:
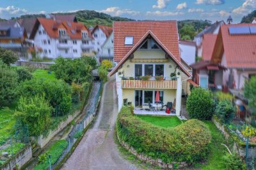
[[[61,121],[60,125],[58,125],[57,128],[54,130],[50,130],[49,135],[47,137],[44,137],[44,135],[40,135],[36,139],[36,143],[40,146],[40,148],[44,148],[44,146],[49,143],[49,141],[54,137],[56,134],[58,134],[63,128],[67,127],[68,123],[70,123],[74,118],[76,118],[81,111],[76,111],[74,114],[68,115],[67,120]]]

